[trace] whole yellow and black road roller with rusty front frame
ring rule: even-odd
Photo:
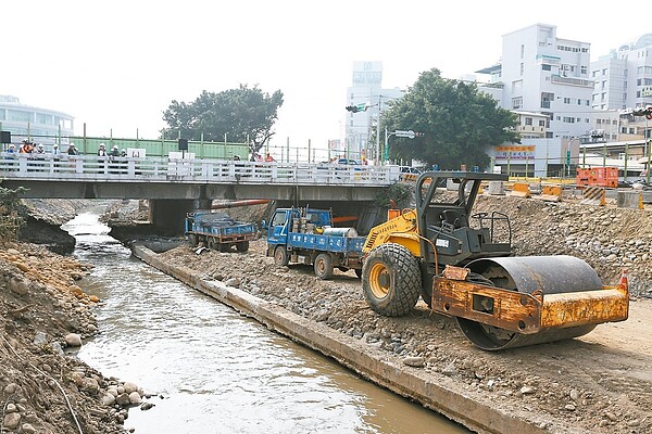
[[[482,183],[506,179],[422,174],[416,207],[391,212],[397,216],[366,239],[362,283],[369,306],[403,316],[421,295],[488,350],[576,337],[599,323],[627,319],[626,279],[604,286],[588,264],[572,256],[513,257],[507,215],[473,214]]]

